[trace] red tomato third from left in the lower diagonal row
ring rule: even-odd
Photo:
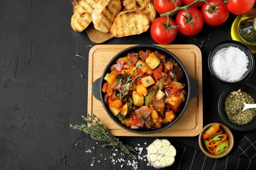
[[[211,26],[224,24],[229,16],[226,3],[223,0],[208,0],[208,3],[210,6],[203,3],[201,8],[204,22]]]

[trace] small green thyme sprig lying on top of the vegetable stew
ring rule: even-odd
[[[135,73],[135,69],[133,70],[133,73]],[[118,85],[119,87],[117,88],[119,93],[117,93],[117,96],[120,97],[120,100],[123,99],[123,97],[125,97],[125,95],[127,95],[129,93],[130,88],[133,87],[133,82],[135,81],[136,78],[140,78],[140,75],[135,76],[135,78],[133,78],[133,73],[131,73],[131,75],[128,76],[127,81],[125,82],[125,84],[123,84],[123,92],[122,91],[122,87],[121,87],[121,82],[122,82],[122,78],[119,79]]]

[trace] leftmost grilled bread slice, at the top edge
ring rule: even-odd
[[[98,0],[82,0],[75,5],[74,14],[71,18],[71,26],[75,31],[81,32],[88,27],[96,3],[98,3]]]

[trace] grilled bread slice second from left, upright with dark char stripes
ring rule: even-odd
[[[121,8],[122,3],[120,0],[98,1],[92,14],[92,21],[95,29],[103,33],[108,33]]]

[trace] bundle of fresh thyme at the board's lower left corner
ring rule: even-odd
[[[106,144],[102,144],[102,147],[111,146],[113,148],[120,148],[129,156],[133,156],[133,152],[136,152],[133,147],[129,146],[128,144],[123,144],[121,141],[119,141],[119,138],[111,135],[106,126],[104,126],[104,124],[95,114],[88,114],[86,117],[82,116],[82,118],[87,124],[74,126],[70,124],[70,127],[85,132],[96,141],[106,142]]]

